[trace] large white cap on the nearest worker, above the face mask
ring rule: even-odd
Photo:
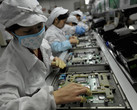
[[[37,0],[4,0],[0,5],[0,23],[10,27],[14,24],[33,26],[46,22],[41,9]]]

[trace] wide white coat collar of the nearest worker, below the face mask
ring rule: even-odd
[[[39,59],[27,48],[21,46],[16,39],[13,39],[13,46],[18,55],[21,57],[21,60],[25,64],[26,68],[28,70],[31,70],[31,68],[36,64]]]

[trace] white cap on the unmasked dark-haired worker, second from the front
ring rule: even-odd
[[[67,12],[68,12],[68,9],[64,9],[62,7],[54,8],[46,22],[46,26],[47,27],[51,26],[55,18],[59,17],[59,15],[66,14]]]

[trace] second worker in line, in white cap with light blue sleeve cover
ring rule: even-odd
[[[51,12],[46,26],[48,27],[45,39],[51,45],[53,56],[60,56],[61,52],[72,48],[72,44],[76,44],[78,40],[75,37],[65,37],[62,31],[68,18],[68,10],[62,7],[56,7]]]

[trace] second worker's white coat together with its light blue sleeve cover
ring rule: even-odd
[[[55,25],[51,25],[48,28],[44,39],[46,39],[51,45],[53,56],[59,57],[62,51],[72,48],[72,45],[70,44],[69,40],[67,40],[67,38],[65,37],[65,32],[63,32],[62,29],[57,28]],[[60,47],[57,46],[56,48],[53,48],[52,45],[57,42]],[[60,52],[55,52],[55,49]]]

